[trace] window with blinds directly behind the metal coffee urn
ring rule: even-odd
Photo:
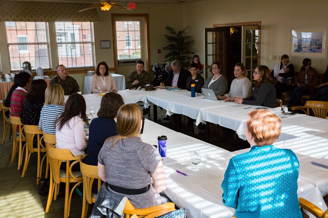
[[[51,68],[47,22],[5,22],[10,70],[21,70],[28,61],[33,69]]]

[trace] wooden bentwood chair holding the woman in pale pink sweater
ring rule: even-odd
[[[80,155],[74,156],[69,149],[57,149],[55,146],[51,147],[49,145],[46,145],[46,150],[50,164],[50,187],[46,213],[49,212],[52,197],[53,200],[57,200],[60,182],[65,182],[64,218],[67,218],[70,215],[72,193],[75,188],[82,183],[82,173],[80,171],[72,171],[73,165],[79,163]],[[60,170],[60,165],[63,160],[66,160],[66,171]],[[70,160],[75,161],[70,165]],[[73,182],[76,182],[76,184],[70,192],[70,183]]]

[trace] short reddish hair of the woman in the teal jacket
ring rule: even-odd
[[[246,127],[259,147],[272,145],[280,135],[281,120],[267,110],[254,110],[248,113]]]

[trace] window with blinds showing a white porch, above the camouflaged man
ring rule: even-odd
[[[56,22],[59,64],[95,66],[93,23]]]

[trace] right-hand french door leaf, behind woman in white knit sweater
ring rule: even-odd
[[[241,57],[242,63],[248,72],[248,79],[255,83],[253,80],[253,72],[257,65],[260,64],[260,30],[259,26],[242,26],[241,36]]]

